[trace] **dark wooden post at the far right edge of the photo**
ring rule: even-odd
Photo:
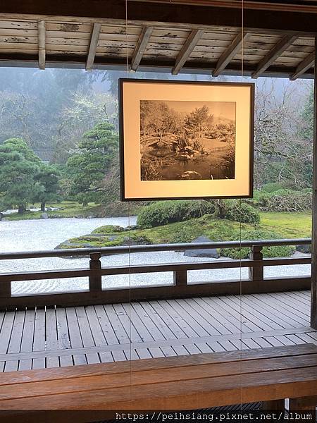
[[[313,93],[313,227],[311,230],[311,327],[317,329],[317,37]]]

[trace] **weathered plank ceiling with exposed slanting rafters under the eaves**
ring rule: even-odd
[[[116,3],[122,8],[122,1],[112,1],[113,6]],[[263,14],[263,20],[268,20],[271,27],[253,27],[247,16],[249,26],[242,30],[240,26],[213,22],[206,25],[202,18],[199,24],[197,15],[194,23],[189,22],[187,9],[182,9],[186,11],[184,23],[179,17],[180,8],[192,7],[200,13],[207,9],[216,13],[218,8],[178,5],[178,21],[173,22],[173,13],[168,13],[173,9],[168,4],[161,4],[163,19],[156,21],[153,12],[158,1],[155,4],[144,0],[131,3],[147,3],[147,10],[142,12],[147,19],[139,20],[138,14],[138,19],[131,19],[128,15],[128,23],[125,23],[118,11],[113,13],[115,18],[108,17],[110,13],[106,17],[93,18],[74,16],[75,13],[58,16],[63,12],[58,9],[54,16],[51,10],[49,15],[28,14],[25,10],[19,14],[7,10],[1,13],[0,8],[0,65],[36,65],[42,69],[45,66],[85,67],[87,70],[128,68],[130,71],[168,71],[174,75],[212,73],[213,76],[240,75],[243,66],[244,75],[253,78],[266,75],[286,76],[292,80],[313,77],[315,32],[309,32],[309,27],[308,32],[304,31],[305,25],[298,30],[300,25],[293,21],[290,30],[272,27],[274,17],[270,20],[267,13],[277,12]],[[128,4],[129,12],[133,17]],[[240,24],[240,11],[235,9],[232,13],[231,22]],[[300,16],[306,18],[306,15]],[[316,15],[314,17],[316,22]],[[260,18],[258,16],[259,21]],[[219,18],[216,17],[216,21]]]

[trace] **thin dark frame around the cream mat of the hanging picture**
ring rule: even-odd
[[[124,148],[124,111],[123,111],[123,85],[125,82],[136,82],[141,84],[157,83],[157,84],[171,84],[171,85],[223,85],[223,86],[244,86],[251,88],[250,90],[250,142],[249,142],[249,194],[248,195],[224,195],[221,197],[199,196],[199,197],[147,197],[147,198],[130,198],[125,196],[125,148]],[[119,138],[120,138],[120,201],[155,201],[155,200],[209,200],[217,198],[252,198],[253,197],[253,182],[254,182],[254,82],[209,82],[209,81],[188,81],[188,80],[154,80],[154,79],[132,79],[119,78],[118,80],[119,92]]]

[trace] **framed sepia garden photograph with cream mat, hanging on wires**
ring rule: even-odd
[[[253,195],[254,84],[119,80],[121,200]]]

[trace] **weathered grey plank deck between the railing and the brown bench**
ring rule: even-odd
[[[309,315],[309,291],[5,312],[0,369],[317,345]]]

